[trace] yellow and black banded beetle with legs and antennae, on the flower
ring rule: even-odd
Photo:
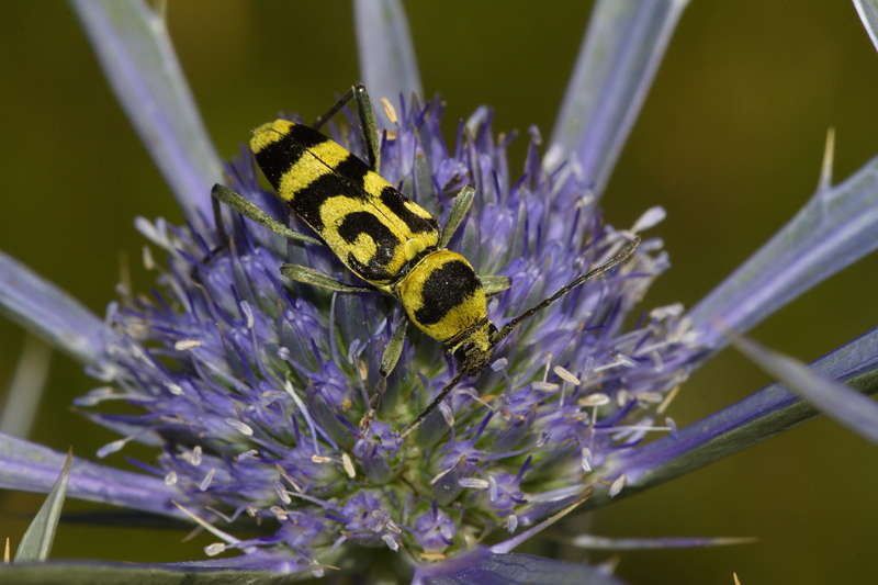
[[[369,165],[318,132],[351,99],[363,126]],[[403,317],[382,357],[381,380],[361,424],[364,430],[374,416],[386,376],[399,359],[407,320],[444,346],[457,362],[458,373],[399,431],[399,438],[417,428],[464,376],[481,373],[494,347],[518,323],[623,261],[640,241],[635,236],[609,262],[581,274],[497,329],[487,318],[486,296],[508,289],[509,279],[480,278],[465,258],[446,249],[473,202],[475,188],[468,184],[461,190],[440,229],[432,215],[387,183],[379,175],[379,136],[363,86],[352,88],[312,126],[285,120],[263,124],[254,132],[250,148],[281,199],[323,241],[291,230],[221,184],[214,185],[213,196],[288,237],[329,246],[369,285],[344,284],[297,265],[283,265],[281,272],[292,280],[338,292],[380,291],[397,299],[405,308],[407,319]]]

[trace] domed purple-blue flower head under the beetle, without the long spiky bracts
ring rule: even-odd
[[[526,175],[509,177],[507,143],[495,142],[488,111],[461,123],[447,145],[439,103],[397,102],[383,133],[382,175],[442,218],[457,190],[480,184],[450,248],[480,272],[511,279],[489,301],[493,322],[628,244],[572,169],[540,167],[537,144]],[[365,158],[356,120],[331,134]],[[306,229],[260,187],[250,153],[226,175],[235,191]],[[695,347],[683,342],[673,308],[622,328],[667,267],[661,244],[648,239],[619,269],[522,323],[483,375],[399,439],[395,431],[453,373],[442,347],[412,331],[364,432],[359,423],[399,303],[286,281],[279,267],[288,261],[354,279],[326,247],[223,213],[222,230],[138,223],[167,254],[167,268],[151,299],[123,300],[111,315],[120,340],[100,361],[145,414],[89,416],[128,439],[158,438],[155,472],[189,507],[245,524],[244,511],[261,518],[262,538],[230,544],[249,554],[280,547],[308,566],[402,547],[423,561],[466,550],[485,530],[515,532],[544,519],[584,497],[592,465],[609,450],[644,436]],[[115,398],[101,390],[79,404]]]

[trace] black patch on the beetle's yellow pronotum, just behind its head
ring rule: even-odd
[[[446,262],[424,281],[421,306],[415,311],[415,319],[423,325],[436,325],[480,289],[482,283],[470,265],[463,260]]]

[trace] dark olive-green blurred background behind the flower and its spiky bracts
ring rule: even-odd
[[[428,95],[448,102],[449,135],[477,105],[495,132],[537,124],[548,136],[589,3],[407,2]],[[145,244],[133,218],[181,220],[169,190],[110,91],[64,2],[0,2],[0,249],[103,315],[120,254],[135,290]],[[222,156],[279,110],[322,113],[359,79],[351,10],[342,2],[171,2],[169,26]],[[631,225],[663,205],[673,268],[643,308],[695,304],[813,192],[826,128],[836,182],[878,153],[878,54],[851,2],[694,2],[684,13],[604,199]],[[520,169],[525,142],[511,148]],[[753,331],[813,360],[878,325],[878,257],[809,292]],[[23,331],[0,319],[0,384]],[[684,386],[671,415],[690,424],[767,383],[727,352]],[[99,385],[56,355],[33,439],[93,458],[115,439],[69,412]],[[126,452],[128,452],[126,450]],[[147,451],[132,451],[147,458]],[[108,463],[126,466],[122,454]],[[727,461],[605,508],[597,533],[755,536],[755,544],[628,553],[631,583],[871,583],[878,573],[878,450],[820,420]],[[18,542],[41,498],[3,494],[0,536]],[[70,504],[70,509],[89,506]],[[183,531],[65,526],[55,558],[183,560],[211,540]]]

